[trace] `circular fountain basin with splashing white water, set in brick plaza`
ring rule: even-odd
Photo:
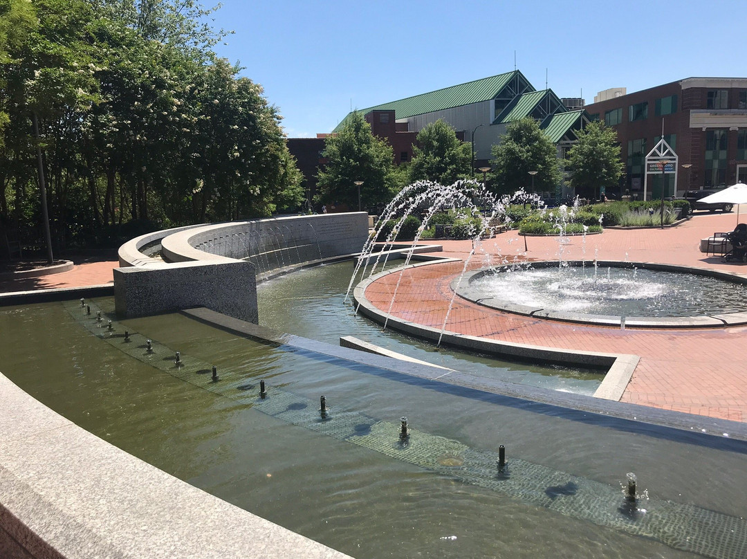
[[[460,297],[506,312],[624,327],[747,324],[747,277],[648,262],[532,262],[465,274]]]

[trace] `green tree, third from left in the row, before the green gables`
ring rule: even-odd
[[[520,188],[530,191],[530,171],[537,171],[535,191],[554,191],[562,180],[557,149],[533,118],[510,123],[500,143],[493,146],[492,155],[488,176],[498,194],[512,194]]]

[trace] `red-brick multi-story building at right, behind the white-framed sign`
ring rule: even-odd
[[[602,93],[604,100],[586,111],[617,130],[626,165],[623,190],[642,197],[645,158],[662,135],[679,157],[677,184],[674,174],[663,180],[654,173],[648,198],[660,197],[662,183],[665,196],[747,183],[747,78],[685,78],[627,95]]]

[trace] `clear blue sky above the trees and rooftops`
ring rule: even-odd
[[[290,138],[353,108],[513,70],[593,101],[692,76],[747,77],[744,0],[222,0],[220,56],[240,62]],[[208,5],[208,2],[205,2]]]

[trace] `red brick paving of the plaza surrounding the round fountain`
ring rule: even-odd
[[[745,206],[747,209],[747,206]],[[740,216],[741,217],[741,216]],[[743,219],[747,220],[747,215]],[[737,223],[731,214],[695,215],[666,229],[605,229],[601,235],[571,237],[560,245],[557,238],[527,238],[530,260],[563,259],[663,262],[693,268],[711,268],[747,274],[747,264],[722,262],[699,250],[701,238],[731,231]],[[438,241],[443,256],[465,259],[471,241]],[[477,247],[469,268],[481,268],[486,254],[524,259],[524,238],[505,232]],[[421,266],[406,271],[391,314],[407,321],[441,328],[452,291],[450,282],[461,273],[463,262]],[[399,274],[382,277],[366,296],[388,311]],[[747,327],[653,329],[584,326],[499,312],[456,297],[446,330],[506,342],[552,348],[633,353],[641,357],[622,401],[678,410],[734,421],[747,421]]]

